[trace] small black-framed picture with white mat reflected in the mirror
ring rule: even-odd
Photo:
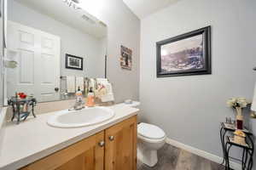
[[[73,64],[69,59],[73,59]],[[76,65],[76,62],[78,65]],[[82,57],[78,57],[72,54],[66,54],[66,60],[65,60],[65,65],[67,69],[73,69],[73,70],[79,70],[83,71],[84,70],[84,59]]]

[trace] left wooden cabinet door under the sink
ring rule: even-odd
[[[103,170],[104,132],[59,150],[21,170]]]

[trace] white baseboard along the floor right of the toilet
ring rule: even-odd
[[[173,139],[169,139],[167,138],[166,139],[166,143],[167,144],[171,144],[177,148],[180,148],[182,150],[187,150],[189,151],[190,153],[193,153],[197,156],[201,156],[201,157],[204,157],[210,161],[214,161],[216,163],[221,163],[223,161],[223,158],[220,157],[220,156],[215,156],[207,151],[204,151],[204,150],[198,150],[192,146],[189,146],[187,144],[182,144],[180,142],[177,142],[176,140],[173,140]],[[235,162],[235,161],[230,161],[230,167],[232,169],[235,169],[235,170],[241,170],[241,164]]]

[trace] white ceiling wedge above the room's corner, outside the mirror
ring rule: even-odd
[[[131,8],[131,11],[137,15],[139,19],[143,19],[149,14],[153,14],[161,8],[166,8],[178,0],[123,0],[124,3]]]

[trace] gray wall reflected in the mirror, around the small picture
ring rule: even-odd
[[[104,77],[104,55],[102,55],[103,45],[101,39],[62,24],[45,14],[38,13],[32,8],[16,3],[14,0],[9,0],[8,3],[9,20],[61,37],[61,76]],[[99,50],[99,48],[102,49]],[[66,54],[83,57],[84,71],[66,69]]]

